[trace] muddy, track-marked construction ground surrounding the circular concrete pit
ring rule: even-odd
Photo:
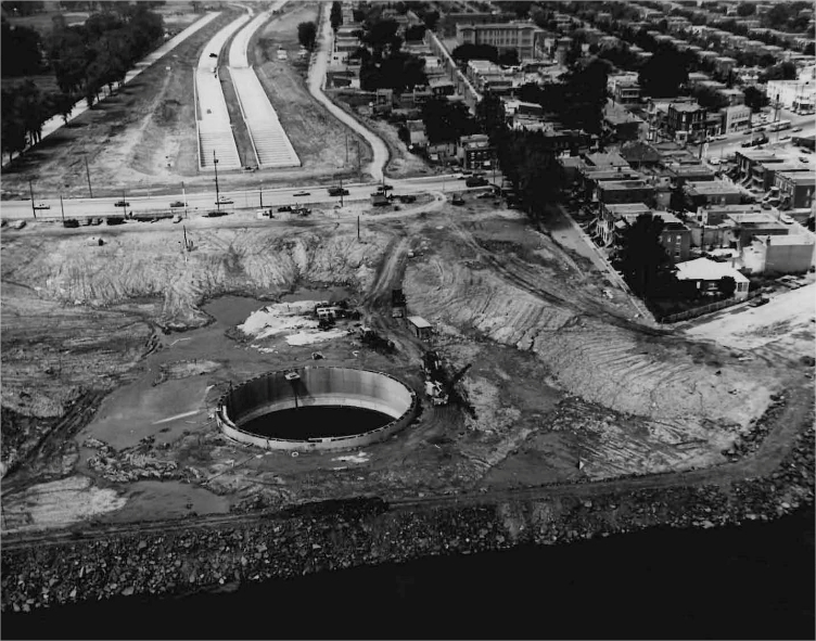
[[[21,444],[3,458],[27,463],[4,479],[7,528],[702,470],[753,434],[772,395],[812,385],[800,362],[814,338],[804,298],[789,304],[799,343],[774,359],[752,351],[767,348],[754,342],[765,325],[747,324],[728,347],[663,334],[628,320],[625,299],[600,295],[594,268],[485,203],[456,208],[437,195],[390,214],[357,205],[271,222],[244,213],[191,220],[188,232],[187,255],[169,222],[98,228],[103,246],[47,223],[3,234],[3,441]],[[337,285],[395,355],[353,333],[258,338],[218,315],[206,324],[202,310],[224,294],[254,296],[227,303],[247,305],[245,318],[286,293]],[[436,328],[447,367],[472,363],[458,402],[423,401],[416,424],[354,452],[295,459],[218,433],[212,409],[230,382],[310,363],[316,349],[326,364],[390,372],[422,396],[425,346],[391,318],[398,286],[409,312]],[[190,330],[151,343],[151,324]],[[56,375],[42,375],[46,363]],[[81,403],[71,401],[90,394],[88,412],[72,414]],[[37,450],[33,434],[49,447]],[[62,485],[43,487],[52,480]],[[48,516],[42,505],[58,495],[63,511]]]

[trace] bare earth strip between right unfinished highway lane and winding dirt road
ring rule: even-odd
[[[331,181],[341,172],[356,176],[357,167],[370,161],[371,151],[357,133],[332,117],[309,94],[308,60],[297,59],[297,25],[317,21],[318,5],[296,3],[284,7],[283,11],[250,42],[250,63],[255,65],[260,84],[301,158],[299,169],[279,172],[293,178],[308,175],[314,181]],[[278,47],[286,50],[288,60],[278,60]]]

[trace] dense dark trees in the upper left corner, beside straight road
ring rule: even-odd
[[[67,120],[77,100],[85,98],[88,106],[92,106],[104,86],[113,88],[114,84],[122,84],[128,69],[162,39],[162,16],[150,11],[148,3],[111,4],[112,9],[91,14],[82,25],[68,26],[62,15],[54,16],[44,40],[40,41],[37,35],[37,56],[15,69],[16,76],[24,76],[31,74],[34,65],[39,70],[50,68],[59,91],[42,91],[30,79],[3,86],[2,151],[10,159],[27,142],[39,142],[42,126],[51,116],[59,114]],[[3,26],[4,75],[10,60],[5,29]],[[9,27],[12,33],[21,29]],[[33,39],[28,34],[24,37]]]

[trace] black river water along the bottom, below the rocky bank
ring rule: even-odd
[[[814,639],[814,512],[3,615],[4,639]]]

